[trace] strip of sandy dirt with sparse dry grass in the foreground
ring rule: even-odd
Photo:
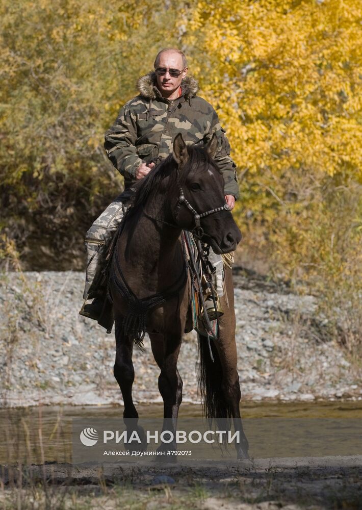
[[[45,464],[3,467],[1,479],[0,505],[9,510],[357,510],[362,456],[266,458],[227,466],[205,463],[197,468]]]

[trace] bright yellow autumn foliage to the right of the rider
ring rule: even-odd
[[[243,176],[247,242],[268,245],[283,273],[328,272],[332,258],[337,278],[360,256],[361,16],[357,0],[200,1],[182,11],[190,68]]]

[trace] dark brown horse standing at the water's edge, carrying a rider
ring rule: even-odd
[[[182,230],[193,231],[196,217],[204,232],[202,240],[215,253],[234,250],[241,239],[239,228],[225,208],[223,178],[212,159],[216,148],[215,135],[202,148],[187,146],[182,136],[177,135],[173,154],[137,185],[133,207],[126,213],[116,241],[110,268],[116,334],[114,375],[123,396],[125,423],[127,419],[138,419],[132,400],[135,335],[130,333],[127,324],[134,324],[130,321],[132,310],[135,312],[137,306],[143,305],[147,309],[147,301],[153,308],[143,311],[143,326],[161,370],[159,390],[164,401],[164,419],[174,421],[178,415],[183,382],[177,370],[177,358],[185,327],[189,325],[191,301],[191,279],[180,241]],[[224,315],[219,319],[220,338],[211,342],[214,361],[207,340],[199,337],[199,385],[205,416],[232,418],[241,438],[235,444],[238,458],[248,458],[248,442],[239,410],[241,393],[230,269],[225,269],[225,283],[227,297],[221,298]],[[139,310],[135,313],[137,316]]]

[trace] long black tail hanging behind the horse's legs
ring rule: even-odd
[[[222,366],[215,343],[210,339],[210,348],[214,361],[212,360],[208,339],[197,334],[199,346],[199,377],[198,388],[201,396],[203,413],[206,419],[229,422],[231,418],[231,407],[226,402],[222,388]]]

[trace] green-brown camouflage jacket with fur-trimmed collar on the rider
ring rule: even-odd
[[[166,158],[177,133],[186,143],[207,143],[216,133],[219,147],[215,160],[224,177],[225,195],[239,195],[236,165],[230,158],[230,145],[213,107],[196,95],[198,83],[186,77],[182,94],[174,100],[162,97],[154,72],[137,81],[140,94],[121,108],[106,132],[105,149],[113,165],[124,176],[125,188],[135,182],[142,161]]]

